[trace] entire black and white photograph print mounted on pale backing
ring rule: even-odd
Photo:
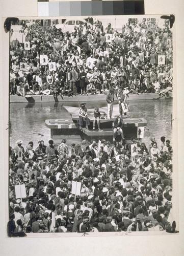
[[[8,237],[178,230],[173,38],[158,15],[12,22]]]

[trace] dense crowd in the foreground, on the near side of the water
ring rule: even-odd
[[[145,145],[132,137],[111,144],[10,147],[8,234],[171,230],[172,146],[164,136]],[[137,143],[138,155],[131,156]],[[81,184],[71,193],[72,182]],[[17,198],[15,186],[25,185]]]

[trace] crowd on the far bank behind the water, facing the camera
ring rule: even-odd
[[[138,23],[134,18],[117,31],[97,20],[79,24],[71,33],[40,20],[22,20],[21,25],[19,33],[30,48],[11,41],[10,95],[53,95],[57,100],[58,95],[107,94],[111,88],[127,87],[133,94],[172,92],[172,31],[167,21],[160,28],[156,19]]]

